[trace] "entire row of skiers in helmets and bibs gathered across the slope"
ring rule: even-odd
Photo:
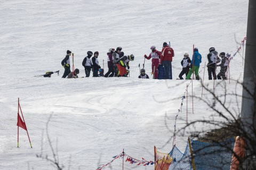
[[[155,46],[151,46],[150,49],[151,53],[149,54],[149,56],[145,54],[144,57],[147,60],[150,60],[152,58],[151,74],[153,75],[153,79],[172,79],[172,58],[174,57],[173,49],[167,43],[163,43],[163,49],[161,52],[156,50]],[[78,78],[78,69],[75,69],[73,72],[70,71],[71,54],[71,51],[67,50],[67,55],[61,62],[62,66],[65,68],[65,72],[62,78]],[[98,61],[99,52],[87,52],[87,56],[82,62],[82,65],[85,69],[86,77],[90,77],[91,70],[93,72],[93,77],[127,77],[130,69],[130,61],[134,60],[134,55],[124,55],[124,53],[122,52],[122,47],[117,47],[116,49],[109,48],[109,52],[107,53],[107,55],[108,72],[104,74],[104,70],[101,69]],[[207,64],[209,80],[215,80],[217,78],[227,80],[226,71],[228,67],[228,57],[230,57],[230,55],[226,55],[225,52],[222,52],[220,53],[219,57],[218,52],[215,50],[215,48],[211,47],[209,49],[209,54],[207,55],[207,59],[209,61]],[[199,80],[198,71],[201,62],[202,56],[198,52],[198,48],[194,48],[194,55],[192,59],[190,59],[188,53],[185,53],[181,61],[182,70],[179,74],[179,79],[182,80],[182,76],[186,74],[185,79],[189,80],[191,79],[190,77],[193,72],[195,72],[195,78],[196,80]],[[218,75],[216,75],[217,66],[221,67],[220,73]],[[149,76],[146,74],[144,67],[140,70],[139,78],[149,79]]]

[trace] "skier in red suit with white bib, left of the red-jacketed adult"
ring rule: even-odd
[[[157,67],[159,65],[159,58],[161,56],[161,52],[158,52],[158,50],[156,50],[156,46],[151,46],[150,49],[152,50],[152,52],[149,54],[149,56],[147,56],[145,54],[144,57],[147,58],[147,60],[152,58],[152,65],[151,65],[152,73],[151,74],[154,74],[154,79],[157,79],[157,77],[158,77]]]

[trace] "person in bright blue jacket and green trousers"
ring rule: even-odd
[[[192,57],[191,64],[190,64],[190,70],[188,72],[186,80],[190,79],[191,74],[193,74],[193,70],[195,71],[196,80],[199,80],[198,71],[199,71],[199,67],[200,67],[201,62],[202,62],[202,56],[201,56],[200,53],[198,53],[198,49],[195,48],[194,49],[194,55]]]

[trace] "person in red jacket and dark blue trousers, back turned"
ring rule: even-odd
[[[160,64],[164,66],[165,79],[172,79],[172,57],[174,57],[173,49],[164,42]]]

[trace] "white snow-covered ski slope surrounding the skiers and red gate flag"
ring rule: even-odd
[[[147,160],[154,160],[154,145],[164,152],[171,150],[172,140],[166,142],[172,137],[189,81],[137,79],[143,55],[150,53],[151,45],[161,50],[164,41],[171,41],[175,52],[173,77],[178,78],[183,53],[191,55],[193,44],[203,56],[202,66],[211,46],[234,54],[246,35],[248,1],[42,0],[0,4],[0,169],[53,169],[36,157],[42,147],[43,154],[52,156],[45,131],[50,115],[49,135],[58,148],[60,163],[66,169],[69,164],[71,169],[96,169],[123,148],[128,155]],[[135,56],[131,78],[61,79],[60,62],[67,49],[75,53],[75,67],[81,70],[81,77],[85,75],[82,61],[87,50],[98,50],[100,65],[105,60],[107,70],[108,48],[117,46]],[[242,57],[237,55],[233,61],[230,74],[237,79],[243,71]],[[145,68],[149,74],[150,61],[145,62]],[[59,77],[54,73],[51,79],[34,78],[57,70]],[[205,83],[213,87],[212,81]],[[200,83],[193,86],[194,93],[201,95]],[[233,81],[228,86],[230,91],[236,88]],[[242,92],[239,87],[238,92]],[[33,149],[24,130],[20,130],[17,148],[18,97]],[[188,101],[189,121],[212,114],[197,100],[192,114],[191,98]],[[230,98],[230,105],[239,111],[235,98]],[[186,125],[185,108],[183,103],[177,129]],[[187,136],[178,135],[177,147],[184,149],[186,140]],[[120,165],[121,160],[112,164],[113,169]],[[137,167],[145,168],[153,166]]]

